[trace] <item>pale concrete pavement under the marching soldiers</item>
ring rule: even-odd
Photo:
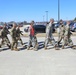
[[[11,37],[9,36],[11,41]],[[18,45],[20,51],[0,48],[0,75],[76,75],[76,50],[43,48],[44,37],[38,37],[39,50],[27,50]],[[22,37],[27,45],[28,37]],[[57,37],[55,37],[57,40]],[[76,45],[76,36],[72,37]]]

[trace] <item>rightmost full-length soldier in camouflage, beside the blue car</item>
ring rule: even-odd
[[[70,21],[67,21],[67,25],[65,26],[65,37],[64,37],[64,43],[65,45],[69,45],[73,47],[73,42],[71,40],[71,31],[70,31]]]

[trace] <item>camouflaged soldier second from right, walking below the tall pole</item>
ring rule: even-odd
[[[65,26],[63,24],[63,21],[60,20],[59,33],[58,33],[58,43],[57,43],[57,45],[59,47],[59,44],[60,44],[60,42],[63,39],[62,49],[64,49],[64,33],[65,33]]]

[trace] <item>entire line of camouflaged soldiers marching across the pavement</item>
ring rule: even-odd
[[[60,44],[62,41],[62,49],[65,48],[65,46],[70,46],[71,48],[74,48],[72,39],[71,39],[71,31],[70,31],[70,21],[67,21],[67,24],[64,25],[63,21],[60,20],[60,25],[58,29],[58,41],[56,42],[53,35],[52,35],[52,27],[54,25],[54,19],[50,19],[50,22],[46,26],[46,37],[45,37],[45,42],[44,42],[44,48],[47,50],[48,44],[51,44],[54,46],[55,49],[60,48]],[[10,34],[12,37],[12,43],[10,43],[7,35]],[[27,50],[30,50],[30,47],[33,47],[33,50],[38,50],[38,41],[36,37],[36,31],[34,28],[34,21],[31,21],[30,27],[28,29],[28,36],[29,36],[29,41],[27,45]],[[22,31],[20,31],[20,27],[16,25],[16,23],[13,24],[13,27],[11,31],[6,27],[6,24],[4,24],[3,29],[1,30],[1,43],[0,43],[0,48],[2,47],[3,44],[6,44],[11,50],[19,51],[18,47],[18,41],[21,41],[21,44],[24,45],[22,42],[22,39],[20,37],[22,34]]]

